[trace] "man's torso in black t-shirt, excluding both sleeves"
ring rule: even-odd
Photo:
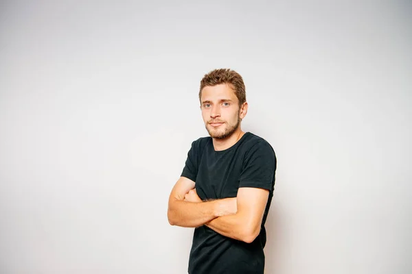
[[[236,197],[247,153],[262,141],[266,142],[247,132],[229,149],[214,151],[211,138],[199,139],[195,186],[198,196],[202,200]],[[264,222],[273,197],[273,186],[274,178],[260,235],[252,243],[222,236],[205,225],[195,229],[189,273],[263,273],[263,248],[266,244]]]

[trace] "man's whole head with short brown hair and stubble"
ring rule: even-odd
[[[199,99],[203,121],[212,138],[231,136],[247,113],[242,76],[230,69],[207,73],[201,81]]]

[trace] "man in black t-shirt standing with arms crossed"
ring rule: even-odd
[[[196,227],[190,274],[264,273],[264,223],[276,157],[263,138],[243,132],[248,103],[242,77],[211,71],[199,91],[210,137],[192,142],[168,203],[171,225]]]

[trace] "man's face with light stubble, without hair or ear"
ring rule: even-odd
[[[227,84],[203,88],[201,110],[207,132],[212,138],[217,139],[231,136],[243,118],[238,97]]]

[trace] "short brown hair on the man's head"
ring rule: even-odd
[[[201,81],[199,100],[201,100],[202,90],[205,86],[216,86],[218,84],[228,84],[238,97],[239,105],[246,102],[246,88],[244,87],[243,78],[231,69],[215,69],[207,73]]]

